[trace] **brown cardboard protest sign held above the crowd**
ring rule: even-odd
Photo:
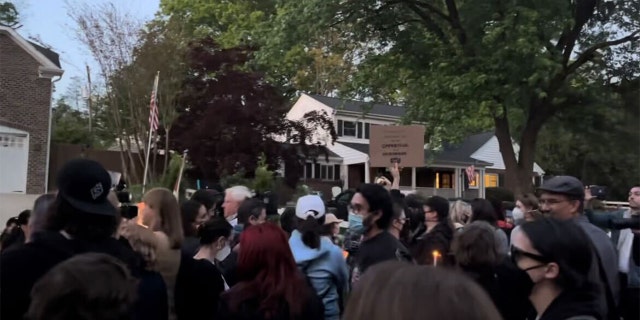
[[[424,126],[371,126],[369,158],[372,167],[424,166]]]

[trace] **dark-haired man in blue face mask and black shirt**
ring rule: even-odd
[[[361,274],[377,263],[413,260],[407,248],[387,231],[393,217],[393,204],[389,191],[383,186],[372,183],[360,185],[351,198],[350,210],[361,218],[363,232],[363,240],[351,272],[352,283],[357,282]]]

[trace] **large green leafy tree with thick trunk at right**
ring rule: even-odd
[[[629,1],[308,0],[279,13],[273,25],[296,28],[274,27],[262,54],[286,56],[334,28],[362,44],[351,96],[406,104],[436,141],[494,128],[515,192],[532,187],[545,124],[638,74]]]

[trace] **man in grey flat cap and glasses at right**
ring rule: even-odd
[[[582,214],[584,204],[584,185],[572,176],[556,176],[546,180],[538,188],[540,211],[544,215],[572,220],[587,234],[593,246],[589,274],[592,282],[602,284],[605,294],[601,295],[601,311],[604,318],[618,317],[620,283],[618,279],[618,259],[611,239],[602,229],[591,224]]]

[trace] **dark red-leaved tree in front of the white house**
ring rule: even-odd
[[[324,147],[311,143],[316,130],[328,132],[331,142],[336,131],[328,115],[318,112],[287,120],[288,99],[262,74],[248,70],[252,52],[220,49],[211,39],[191,44],[171,149],[188,149],[198,176],[209,181],[241,169],[251,175],[264,154],[272,169],[285,162],[285,180],[294,186],[305,158],[322,155]]]

